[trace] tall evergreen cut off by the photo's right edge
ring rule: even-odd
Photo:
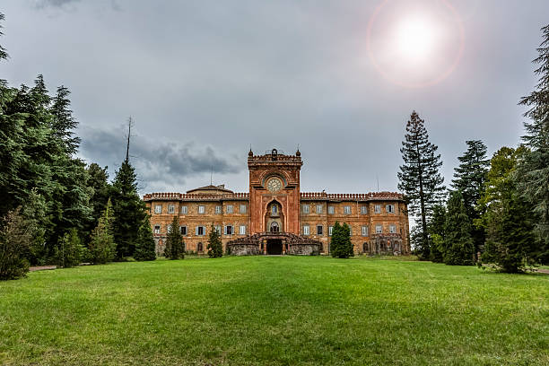
[[[536,90],[520,100],[529,109],[522,137],[529,151],[518,165],[519,189],[534,207],[537,215],[536,234],[541,240],[539,259],[549,263],[549,25],[542,28],[543,41],[534,60],[539,75]]]

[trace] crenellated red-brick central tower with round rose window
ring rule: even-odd
[[[301,153],[248,153],[249,225],[256,232],[300,234]]]

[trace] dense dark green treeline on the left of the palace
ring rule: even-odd
[[[0,279],[30,265],[155,258],[128,155],[112,182],[107,167],[77,158],[69,94],[50,94],[42,75],[17,88],[0,80]]]

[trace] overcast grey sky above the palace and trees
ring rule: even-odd
[[[210,183],[248,190],[246,158],[273,147],[304,165],[302,191],[396,190],[417,110],[447,183],[468,139],[493,153],[522,134],[521,96],[546,0],[3,0],[13,85],[65,85],[81,156],[124,159],[141,192]]]

